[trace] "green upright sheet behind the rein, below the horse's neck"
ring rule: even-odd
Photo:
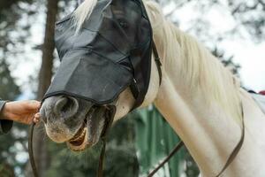
[[[136,112],[136,149],[140,163],[140,176],[146,176],[150,169],[165,158],[180,141],[162,115],[152,106]],[[170,159],[156,176],[178,177],[184,172],[185,150]]]

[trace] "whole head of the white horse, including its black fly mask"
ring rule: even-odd
[[[140,0],[87,0],[57,22],[55,41],[61,65],[41,109],[53,141],[84,150],[111,119],[155,99],[147,96],[152,28]]]

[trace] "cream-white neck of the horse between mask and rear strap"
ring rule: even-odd
[[[228,92],[231,91],[229,96],[236,100],[231,101],[229,105],[234,109],[225,108],[223,103],[227,101],[225,99],[229,99],[229,96],[224,95],[226,93],[223,90],[212,91],[210,87],[211,84],[216,84],[215,81],[212,82],[213,80],[218,80],[220,87],[223,87],[222,84],[226,84],[228,88],[234,87],[234,83],[231,83],[233,82],[231,73],[226,71],[216,58],[205,52],[198,42],[188,43],[194,42],[193,39],[187,35],[181,38],[180,35],[185,34],[168,25],[170,28],[163,28],[161,35],[157,33],[155,35],[157,48],[163,57],[163,81],[155,99],[155,105],[185,142],[187,149],[201,168],[201,173],[205,176],[214,176],[221,171],[240,139],[240,126],[237,121],[239,97],[231,95],[231,93],[237,94],[237,90],[228,90]],[[172,43],[176,43],[175,49],[172,50],[169,50],[169,45],[166,44],[167,37],[165,37],[170,33],[168,37],[170,47]],[[189,47],[190,50],[188,50]],[[200,62],[217,65],[215,68],[220,71],[214,71],[205,65],[201,66],[205,70],[201,72],[201,68],[196,68],[201,64],[193,65],[192,58],[189,58],[190,54],[187,52],[197,52],[193,55],[197,55]],[[186,64],[184,65],[183,62]],[[198,72],[186,72],[190,70],[189,67]],[[203,74],[202,78],[200,74]],[[207,90],[210,92],[209,97],[205,93]],[[224,96],[224,100],[215,94]]]

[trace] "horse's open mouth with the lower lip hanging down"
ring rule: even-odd
[[[66,142],[68,147],[73,151],[81,151],[94,146],[110,126],[110,116],[110,110],[105,107],[92,108],[77,133]]]

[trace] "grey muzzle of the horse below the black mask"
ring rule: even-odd
[[[85,150],[97,143],[110,127],[115,106],[98,106],[72,96],[51,96],[41,108],[47,135],[67,142],[71,150]]]

